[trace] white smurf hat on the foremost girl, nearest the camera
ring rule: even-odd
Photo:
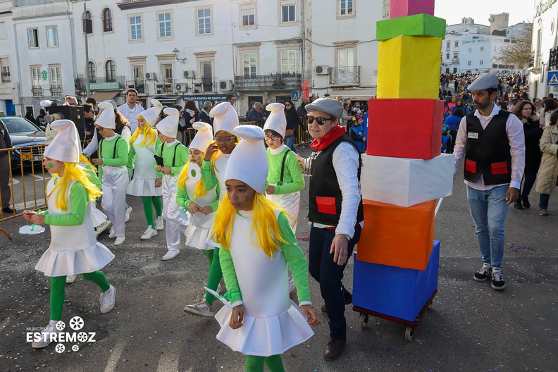
[[[233,135],[239,137],[240,142],[230,154],[225,182],[239,180],[263,194],[269,169],[263,129],[256,125],[239,125],[233,130]]]

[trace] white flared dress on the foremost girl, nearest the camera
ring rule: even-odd
[[[271,356],[308,340],[314,332],[299,307],[289,299],[287,262],[283,251],[273,259],[254,247],[256,234],[247,239],[253,211],[235,216],[230,240],[238,285],[244,302],[242,327],[230,328],[232,309],[223,306],[215,315],[221,325],[217,340],[244,355]],[[278,215],[278,212],[277,212]]]

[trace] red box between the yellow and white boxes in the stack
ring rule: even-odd
[[[443,111],[439,99],[370,99],[366,154],[434,159],[442,149]]]

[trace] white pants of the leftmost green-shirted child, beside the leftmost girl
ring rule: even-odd
[[[103,167],[103,199],[101,206],[113,224],[114,234],[123,236],[126,227],[126,187],[128,171],[125,166]]]

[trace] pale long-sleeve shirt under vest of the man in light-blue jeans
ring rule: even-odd
[[[478,110],[476,110],[473,115],[481,121],[483,130],[485,130],[490,120],[492,120],[492,117],[499,112],[500,108],[494,105],[490,116],[482,116]],[[467,149],[468,134],[466,119],[466,116],[461,119],[459,130],[457,131],[457,139],[454,147],[454,174],[457,173],[459,163],[461,163]],[[523,169],[525,168],[525,135],[523,134],[523,124],[513,113],[509,114],[506,121],[506,133],[509,140],[509,147],[511,147],[511,149],[509,149],[509,154],[512,155],[512,182],[509,183],[509,187],[514,187],[519,190],[521,188],[521,178],[523,178]],[[482,173],[477,182],[465,180],[465,184],[476,190],[490,190],[496,186],[507,185],[506,183],[500,185],[485,185]]]

